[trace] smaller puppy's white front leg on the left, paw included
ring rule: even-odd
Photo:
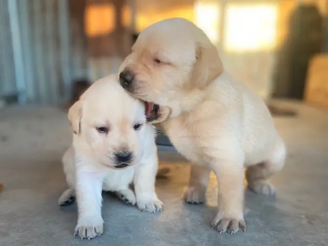
[[[104,220],[101,217],[102,186],[101,174],[88,171],[76,172],[78,219],[74,235],[78,235],[81,239],[100,236],[104,232]]]

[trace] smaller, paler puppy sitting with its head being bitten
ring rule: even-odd
[[[161,211],[155,193],[155,133],[146,124],[145,105],[121,88],[117,76],[92,84],[70,108],[68,118],[74,132],[63,156],[69,189],[59,204],[67,205],[76,196],[75,234],[93,238],[103,233],[102,190],[116,192],[142,211]],[[135,192],[129,187],[132,182]]]

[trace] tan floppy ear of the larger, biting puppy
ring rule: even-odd
[[[199,89],[207,87],[223,72],[222,61],[214,45],[196,43],[196,58],[192,82]]]

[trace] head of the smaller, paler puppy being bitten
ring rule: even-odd
[[[116,75],[92,84],[70,108],[68,118],[75,149],[114,169],[137,163],[150,137],[144,103],[126,93]]]

